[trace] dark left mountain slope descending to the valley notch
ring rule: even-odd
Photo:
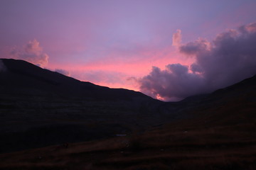
[[[78,81],[22,60],[1,63],[0,152],[111,137],[161,119],[162,102],[140,92]]]

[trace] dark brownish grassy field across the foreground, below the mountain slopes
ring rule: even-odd
[[[255,125],[162,127],[144,135],[0,155],[0,169],[256,169]]]

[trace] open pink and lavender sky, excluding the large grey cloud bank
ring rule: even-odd
[[[181,44],[213,40],[255,22],[255,8],[254,0],[1,0],[0,57],[139,91],[136,80],[152,66],[193,63],[173,42],[177,30]],[[28,51],[31,42],[37,46]]]

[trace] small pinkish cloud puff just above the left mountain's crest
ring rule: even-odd
[[[18,60],[26,60],[40,67],[46,67],[49,58],[46,53],[43,53],[43,49],[40,47],[37,40],[29,41],[22,49],[14,47],[9,57]]]

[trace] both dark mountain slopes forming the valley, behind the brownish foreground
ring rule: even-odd
[[[171,132],[256,122],[256,76],[211,94],[163,102],[137,91],[78,81],[22,60],[1,61],[0,152],[142,134],[152,128]]]

